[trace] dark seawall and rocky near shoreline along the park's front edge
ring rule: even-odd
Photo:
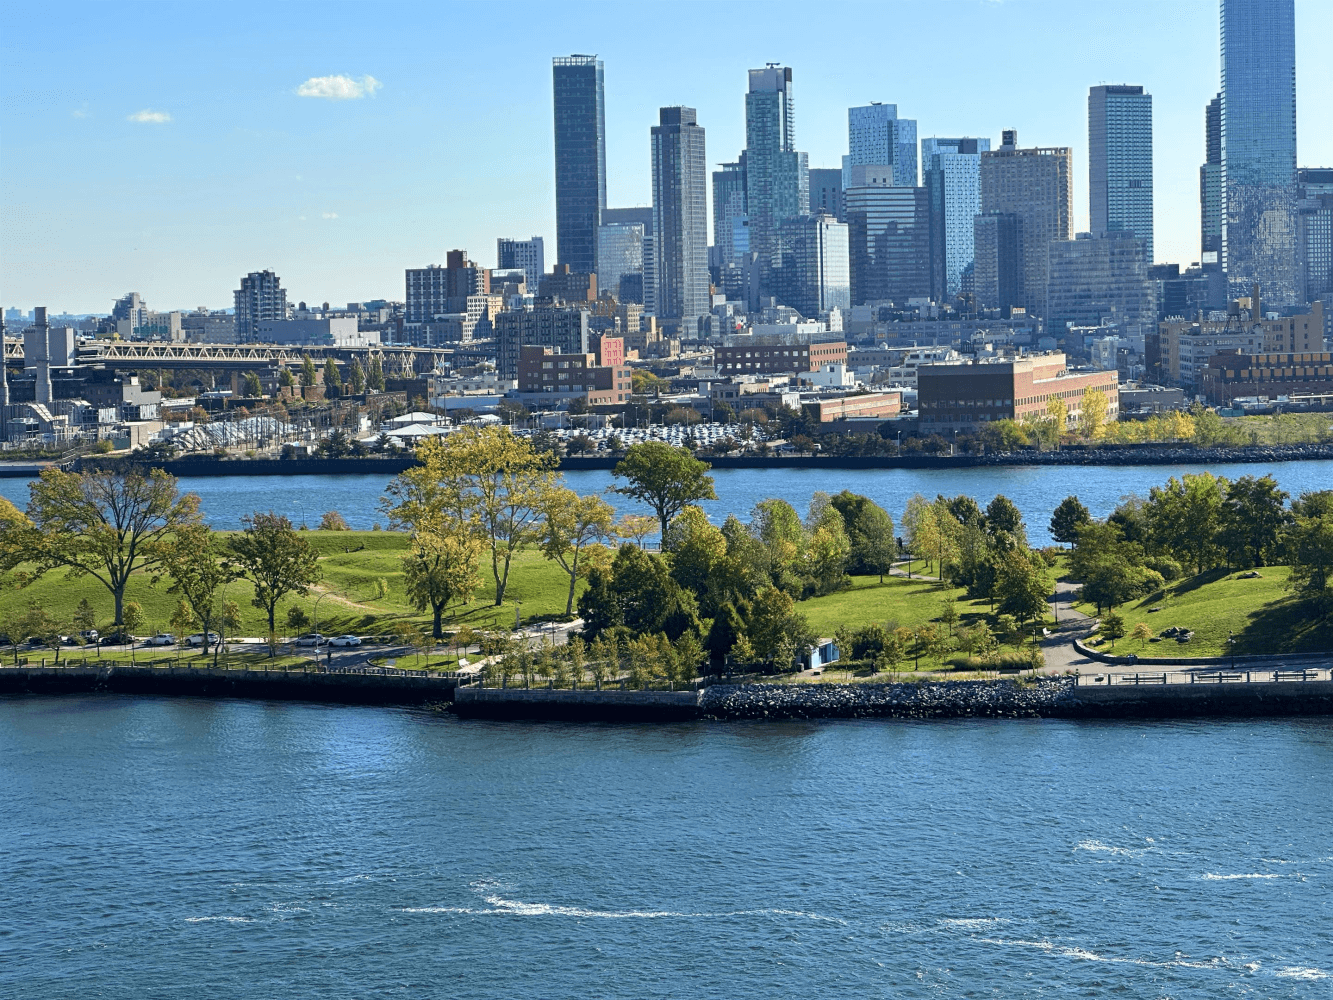
[[[149,695],[412,705],[460,719],[576,723],[793,719],[1198,719],[1333,715],[1333,675],[1278,669],[1252,683],[1165,683],[1125,675],[1098,687],[1073,676],[1034,681],[712,684],[690,691],[460,687],[453,675],[223,671],[212,668],[0,668],[0,696]],[[1322,675],[1322,676],[1321,676]],[[1136,683],[1129,683],[1133,676]],[[1328,676],[1329,679],[1324,679]],[[1109,676],[1108,676],[1109,681]]]

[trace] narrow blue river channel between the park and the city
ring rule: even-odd
[[[1272,473],[1284,489],[1297,496],[1309,489],[1333,488],[1333,460],[1282,461],[1272,464],[1224,463],[1216,465],[986,465],[961,469],[714,469],[717,500],[704,509],[721,523],[734,513],[744,520],[756,503],[781,497],[801,513],[816,491],[836,493],[850,489],[881,504],[901,524],[902,509],[913,493],[933,497],[968,493],[982,505],[996,493],[1013,500],[1028,523],[1033,544],[1049,544],[1046,525],[1050,512],[1070,493],[1092,511],[1105,516],[1125,493],[1146,495],[1169,476],[1208,469],[1218,476],[1261,476]],[[581,493],[612,485],[609,472],[565,472],[565,483]],[[204,512],[216,528],[239,528],[240,519],[253,511],[279,511],[300,524],[319,524],[325,511],[337,511],[353,528],[367,529],[384,515],[376,504],[388,476],[217,476],[184,477],[183,489],[199,493]],[[23,507],[28,485],[21,479],[0,479],[0,496]],[[619,495],[608,499],[621,512],[651,513]]]

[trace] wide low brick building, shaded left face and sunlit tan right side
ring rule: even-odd
[[[1049,400],[1068,407],[1070,425],[1082,417],[1084,393],[1106,395],[1106,420],[1120,416],[1116,372],[1070,372],[1062,353],[1029,357],[924,364],[917,369],[917,409],[921,429],[973,431],[992,420],[1044,416]]]

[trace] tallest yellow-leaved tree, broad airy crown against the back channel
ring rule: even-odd
[[[380,501],[395,524],[468,525],[489,549],[495,604],[504,604],[513,557],[540,539],[556,457],[507,427],[465,427],[417,448],[415,468],[396,476]]]

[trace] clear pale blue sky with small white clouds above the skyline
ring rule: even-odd
[[[607,196],[651,201],[657,108],[698,109],[710,164],[744,145],[745,71],[793,69],[797,148],[846,152],[846,108],[918,135],[1069,145],[1088,225],[1088,88],[1153,95],[1158,261],[1198,260],[1216,0],[858,3],[4,3],[0,304],[229,308],[401,300],[404,268],[496,237],[555,261],[551,59],[605,63]],[[1333,167],[1333,1],[1297,0],[1297,151]]]

